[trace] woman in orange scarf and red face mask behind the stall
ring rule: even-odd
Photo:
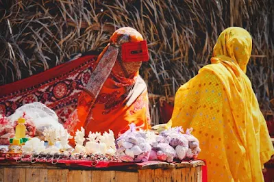
[[[147,86],[138,71],[147,60],[147,42],[138,31],[130,27],[116,30],[95,62],[77,109],[64,124],[71,135],[84,127],[86,135],[111,129],[117,136],[132,122],[149,129]]]

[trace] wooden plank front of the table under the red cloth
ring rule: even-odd
[[[158,162],[147,165],[116,168],[87,168],[64,164],[30,164],[29,162],[0,163],[0,182],[40,181],[202,181],[203,161],[169,164]]]

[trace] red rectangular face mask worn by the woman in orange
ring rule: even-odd
[[[149,61],[149,51],[147,41],[127,42],[122,44],[123,62],[147,62]]]

